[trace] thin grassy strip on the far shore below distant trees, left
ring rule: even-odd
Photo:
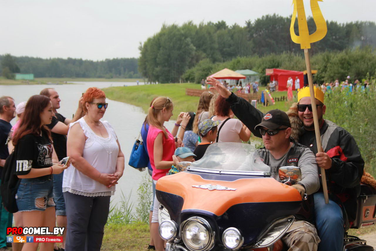
[[[138,78],[35,78],[32,81],[14,80],[0,77],[0,85],[43,85],[47,83],[65,84],[65,82],[143,82]]]

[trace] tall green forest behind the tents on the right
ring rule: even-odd
[[[291,41],[290,22],[291,16],[281,17],[273,14],[265,15],[253,22],[248,20],[245,26],[228,26],[225,21],[199,25],[188,21],[181,26],[164,24],[158,33],[140,44],[139,72],[150,82],[197,82],[203,76],[193,77],[193,74],[196,75],[193,69],[205,70],[202,67],[208,68],[210,64],[230,64],[234,58],[249,61],[265,58],[270,61],[270,65],[264,62],[260,64],[265,64],[266,68],[291,64],[277,63],[279,57],[301,61],[299,58],[303,58],[303,52],[299,44]],[[316,29],[312,17],[308,18],[308,27],[310,33]],[[356,21],[340,24],[336,21],[327,21],[327,28],[326,37],[311,45],[312,55],[346,52],[356,47],[376,47],[374,22]],[[297,22],[295,32],[299,35]],[[247,68],[257,71],[263,67],[260,65],[257,68]],[[299,67],[289,70],[299,70]],[[260,72],[262,76],[264,72]],[[322,75],[317,80],[324,78]]]

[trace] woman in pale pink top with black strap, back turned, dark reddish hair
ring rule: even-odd
[[[239,142],[248,141],[251,131],[238,119],[234,119],[234,114],[230,108],[230,103],[222,96],[218,96],[215,101],[215,114],[212,120],[221,120],[218,125],[217,142]],[[222,126],[223,125],[223,126]],[[222,126],[222,127],[221,127]],[[219,128],[220,131],[219,131]]]

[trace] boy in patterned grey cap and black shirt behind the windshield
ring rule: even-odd
[[[206,149],[209,145],[215,141],[217,138],[218,128],[217,126],[221,123],[221,120],[213,121],[211,119],[205,119],[199,124],[199,134],[201,136],[201,143],[194,149],[194,154],[197,155],[195,160],[199,160],[204,156]]]

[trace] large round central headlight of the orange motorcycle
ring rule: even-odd
[[[214,231],[205,219],[191,217],[182,223],[182,240],[191,250],[210,250],[214,245],[214,239]]]

